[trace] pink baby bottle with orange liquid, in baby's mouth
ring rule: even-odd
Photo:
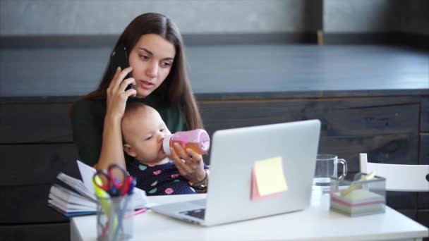
[[[183,149],[192,149],[198,154],[206,154],[210,148],[210,137],[203,129],[179,131],[171,135],[166,135],[162,142],[165,154],[170,154],[170,147],[174,143],[179,143]]]

